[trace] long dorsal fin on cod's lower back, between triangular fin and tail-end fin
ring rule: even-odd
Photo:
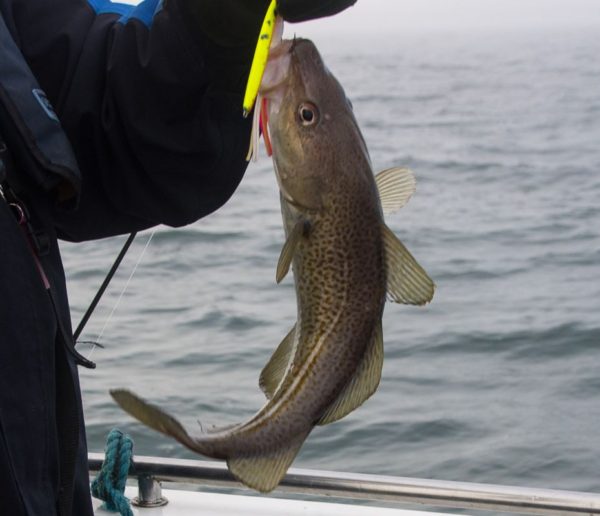
[[[381,321],[379,321],[373,339],[369,343],[365,356],[352,380],[325,411],[318,424],[327,425],[338,421],[367,401],[379,386],[382,367],[383,331]]]

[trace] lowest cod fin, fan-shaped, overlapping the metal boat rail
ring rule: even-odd
[[[230,457],[227,467],[242,484],[268,493],[279,485],[309,433],[310,430],[295,438],[288,446],[266,455]]]

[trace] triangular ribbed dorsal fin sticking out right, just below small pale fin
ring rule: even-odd
[[[405,305],[429,303],[433,298],[435,283],[385,224],[382,225],[382,232],[390,299]]]

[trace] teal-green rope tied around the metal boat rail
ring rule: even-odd
[[[133,516],[125,496],[127,474],[132,466],[133,440],[116,428],[106,439],[104,462],[92,482],[92,495],[104,501],[102,507],[121,516]]]

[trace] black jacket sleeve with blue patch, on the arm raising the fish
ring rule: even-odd
[[[195,221],[246,168],[242,95],[253,48],[220,48],[186,25],[181,0],[0,0],[82,172],[62,238]]]

